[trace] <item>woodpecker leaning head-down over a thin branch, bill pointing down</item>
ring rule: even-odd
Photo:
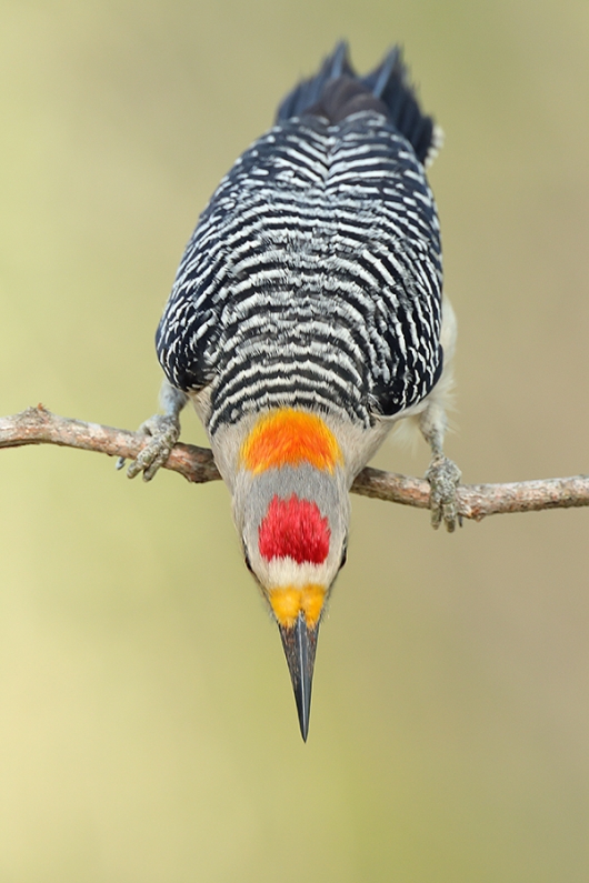
[[[433,525],[457,520],[460,472],[442,449],[456,322],[425,172],[440,143],[399,47],[359,77],[339,43],[222,179],[156,335],[164,413],[142,425],[152,438],[128,474],[153,476],[192,401],[280,631],[303,740],[349,489],[401,418],[431,448]]]

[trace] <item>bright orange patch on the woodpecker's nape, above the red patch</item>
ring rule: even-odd
[[[254,474],[300,463],[333,472],[343,458],[320,417],[283,408],[258,420],[241,445],[241,462]]]

